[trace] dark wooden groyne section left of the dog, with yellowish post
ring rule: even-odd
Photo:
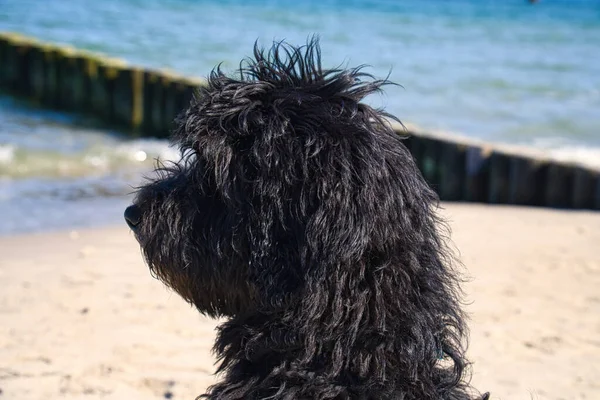
[[[201,80],[0,32],[0,89],[45,107],[164,137]]]

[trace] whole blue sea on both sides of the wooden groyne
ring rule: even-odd
[[[600,0],[0,0],[0,31],[196,77],[316,34],[403,122],[600,167]],[[0,94],[0,235],[122,223],[177,155]]]

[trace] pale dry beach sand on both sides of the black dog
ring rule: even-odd
[[[600,213],[446,204],[494,399],[600,399]],[[193,399],[215,321],[124,226],[0,238],[0,399]]]

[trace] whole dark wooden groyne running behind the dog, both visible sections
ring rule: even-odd
[[[85,113],[132,135],[166,137],[202,81],[0,32],[0,89]],[[600,210],[600,171],[396,128],[442,200]]]

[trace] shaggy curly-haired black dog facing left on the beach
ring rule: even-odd
[[[438,198],[361,103],[387,83],[323,70],[315,40],[255,46],[178,117],[182,161],[125,216],[153,274],[228,318],[204,397],[481,397]]]

